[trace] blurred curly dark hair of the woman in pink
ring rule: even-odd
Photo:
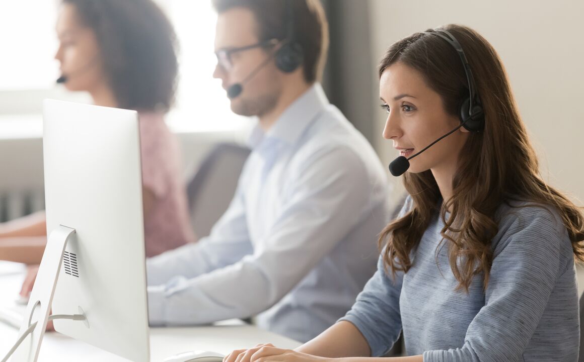
[[[175,31],[151,0],[62,0],[95,31],[117,106],[168,110],[174,101],[178,60]]]

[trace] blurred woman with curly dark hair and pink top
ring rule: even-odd
[[[56,30],[58,83],[97,106],[138,111],[146,255],[194,241],[178,140],[164,122],[178,70],[168,19],[151,0],[62,0]],[[44,213],[0,226],[0,259],[39,263],[45,244]]]

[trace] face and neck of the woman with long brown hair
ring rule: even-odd
[[[401,156],[412,156],[460,125],[458,117],[446,113],[442,98],[426,85],[422,75],[402,62],[385,69],[379,92],[388,113],[383,137],[393,141]],[[467,137],[466,129],[458,129],[410,160],[408,171],[443,170],[454,175]]]

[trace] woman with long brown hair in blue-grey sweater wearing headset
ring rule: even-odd
[[[352,310],[296,351],[260,345],[225,361],[381,361],[403,331],[409,357],[384,361],[575,362],[584,219],[540,178],[495,50],[448,25],[392,45],[379,75],[383,135],[401,156],[454,131],[411,158],[411,196]]]

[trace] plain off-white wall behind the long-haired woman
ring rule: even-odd
[[[506,66],[544,179],[584,201],[584,1],[370,0],[370,13],[374,69],[394,41],[416,31],[447,23],[479,31]],[[378,112],[376,148],[388,163],[396,154],[381,138]]]

